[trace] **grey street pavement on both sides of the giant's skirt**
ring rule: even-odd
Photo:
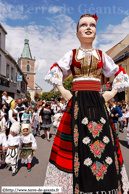
[[[40,137],[36,137],[38,149],[35,152],[32,161],[31,172],[28,172],[26,166],[21,165],[19,160],[19,171],[14,177],[12,177],[12,172],[8,169],[0,169],[0,186],[43,186],[47,163],[55,137],[55,131],[53,128],[51,128],[50,132],[50,142],[44,139],[43,131],[41,131]],[[119,134],[119,139],[125,167],[129,177],[129,148],[127,146],[126,133],[127,130],[125,128],[124,133]]]

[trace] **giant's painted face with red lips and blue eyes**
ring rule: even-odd
[[[83,17],[79,21],[77,37],[80,42],[91,43],[96,35],[96,21],[93,17]]]

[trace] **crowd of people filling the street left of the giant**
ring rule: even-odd
[[[44,131],[44,139],[50,141],[50,128],[59,125],[66,104],[62,101],[33,102],[14,100],[3,92],[0,104],[0,166],[9,168],[12,176],[18,172],[18,160],[31,171],[33,153],[37,150],[35,136]]]

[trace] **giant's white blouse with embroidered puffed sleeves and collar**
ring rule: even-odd
[[[99,58],[95,49],[91,50],[90,55],[94,55],[97,59]],[[81,59],[85,56],[84,51],[79,49],[77,59]],[[56,63],[58,66],[54,66],[51,70],[48,71],[47,75],[45,76],[45,81],[50,84],[58,84],[62,85],[63,82],[63,75],[68,77],[71,74],[70,66],[72,63],[73,51],[67,52],[63,58],[61,58]],[[119,66],[114,63],[114,61],[104,52],[102,52],[102,60],[103,60],[103,67],[102,73],[105,77],[114,76],[119,71]],[[74,81],[77,80],[98,80],[98,78],[91,78],[91,77],[81,77],[75,78]],[[129,77],[127,74],[120,72],[114,79],[112,88],[119,89],[119,92],[125,91],[125,89],[129,87]]]

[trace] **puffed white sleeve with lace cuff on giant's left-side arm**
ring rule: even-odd
[[[68,77],[71,73],[72,53],[72,50],[67,52],[63,58],[53,64],[45,76],[46,82],[62,85],[63,76]]]

